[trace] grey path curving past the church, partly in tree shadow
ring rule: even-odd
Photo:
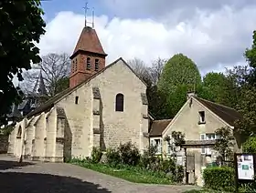
[[[18,164],[0,155],[1,193],[179,193],[191,186],[135,184],[69,164]]]

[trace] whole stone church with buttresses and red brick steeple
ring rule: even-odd
[[[16,123],[8,153],[62,162],[128,141],[143,151],[149,144],[146,85],[123,58],[105,66],[106,56],[95,29],[85,26],[70,56],[69,88]]]

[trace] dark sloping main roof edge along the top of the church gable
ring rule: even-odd
[[[60,92],[59,94],[57,94],[56,96],[51,97],[46,103],[44,103],[43,105],[41,105],[40,107],[37,107],[35,110],[31,111],[29,114],[27,114],[27,117],[33,117],[36,116],[44,111],[49,110],[51,107],[54,107],[54,104],[63,96],[68,95],[69,93],[73,92],[74,90],[76,90],[78,87],[88,83],[91,81],[91,79],[93,79],[96,76],[101,75],[102,72],[104,72],[106,69],[110,68],[111,66],[115,65],[117,62],[119,61],[123,61],[123,64],[125,66],[128,66],[128,68],[133,72],[133,74],[135,76],[137,76],[143,83],[145,86],[146,83],[144,82],[144,80],[138,76],[134,71],[133,68],[131,66],[129,66],[122,57],[118,58],[116,61],[114,61],[112,64],[110,64],[109,66],[104,67],[103,69],[101,69],[99,72],[95,73],[94,75],[92,75],[90,78],[86,79],[85,81],[81,82],[79,85],[72,87],[72,88],[67,88],[66,90]]]

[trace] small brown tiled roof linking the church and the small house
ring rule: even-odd
[[[150,137],[160,137],[162,136],[165,127],[169,125],[172,119],[154,120],[151,127],[149,136]]]

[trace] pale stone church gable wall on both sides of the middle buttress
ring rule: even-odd
[[[141,99],[146,86],[122,61],[119,62],[121,64],[109,67],[56,104],[65,109],[68,129],[72,135],[73,157],[90,156],[93,146],[93,121],[96,121],[93,120],[92,109],[94,86],[99,87],[101,93],[101,145],[116,147],[121,142],[132,140],[138,147],[142,146],[141,133],[148,129],[148,121],[144,121],[142,116]],[[115,96],[118,93],[124,96],[124,112],[115,112]],[[76,96],[79,96],[78,105],[75,104]]]

